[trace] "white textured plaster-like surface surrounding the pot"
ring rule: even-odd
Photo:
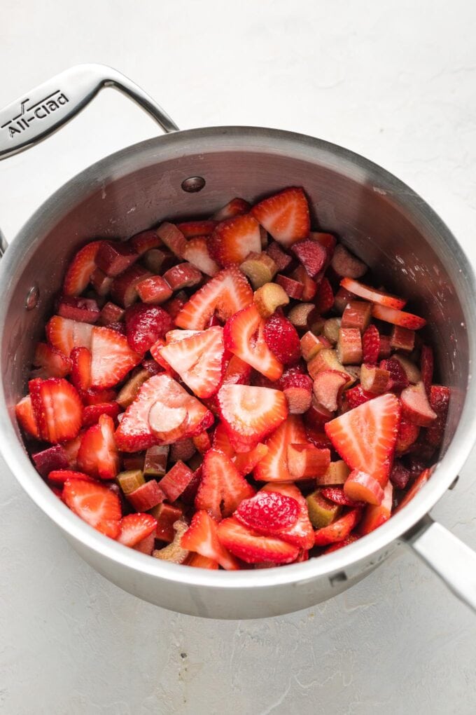
[[[0,0],[0,106],[73,64],[111,64],[180,127],[268,125],[365,154],[420,192],[476,260],[475,7]],[[6,237],[66,179],[155,132],[103,92],[53,139],[3,162]],[[433,512],[474,548],[475,462]],[[475,617],[403,548],[292,616],[162,611],[91,571],[0,470],[2,715],[469,715],[475,643]]]

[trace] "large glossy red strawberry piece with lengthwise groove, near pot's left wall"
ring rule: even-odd
[[[83,405],[73,385],[62,378],[30,380],[31,405],[42,440],[56,444],[79,434]]]

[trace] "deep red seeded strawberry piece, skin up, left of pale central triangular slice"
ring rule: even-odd
[[[168,312],[158,305],[136,303],[126,310],[126,336],[131,350],[146,352],[159,337],[171,330]]]

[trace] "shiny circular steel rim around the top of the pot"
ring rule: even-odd
[[[206,127],[174,132],[133,144],[83,169],[41,204],[19,231],[13,245],[9,247],[0,261],[0,285],[4,285],[5,292],[13,285],[21,267],[22,257],[29,250],[33,250],[35,242],[39,241],[37,237],[43,233],[41,225],[46,225],[50,215],[61,216],[61,213],[64,213],[64,210],[71,204],[83,200],[86,197],[86,192],[92,193],[98,185],[106,186],[108,182],[136,170],[138,159],[141,159],[142,168],[165,159],[183,157],[184,151],[187,150],[194,155],[224,150],[283,154],[288,153],[285,151],[286,147],[292,149],[293,157],[302,158],[308,162],[313,161],[313,154],[320,159],[320,162],[325,159],[331,167],[333,159],[338,159],[340,164],[343,164],[353,174],[354,178],[365,179],[365,182],[370,183],[375,191],[394,194],[397,199],[404,197],[406,206],[415,217],[414,222],[417,224],[420,221],[427,227],[432,227],[435,230],[435,235],[442,237],[441,245],[445,244],[447,251],[455,257],[467,284],[470,286],[471,295],[476,294],[475,274],[462,247],[435,211],[407,184],[401,182],[400,179],[378,164],[365,159],[360,154],[351,152],[349,149],[340,147],[338,144],[325,142],[323,139],[316,139],[305,134],[263,127]],[[132,167],[133,163],[134,167]],[[341,172],[343,166],[339,167]],[[462,296],[458,297],[462,301]],[[3,332],[4,329],[7,307],[6,301],[3,300],[0,305],[0,332]],[[472,327],[474,320],[466,308],[467,305],[465,306],[462,302],[466,325]],[[471,363],[476,354],[476,326],[474,330],[470,330],[468,342]],[[476,438],[474,430],[476,415],[471,414],[470,408],[475,400],[476,383],[470,375],[465,404],[455,435],[448,445],[445,455],[437,463],[425,488],[420,490],[402,511],[392,516],[388,522],[368,536],[360,538],[346,548],[326,556],[310,558],[302,563],[290,564],[284,568],[280,566],[256,571],[235,572],[184,568],[181,565],[151,558],[103,536],[71,512],[54,495],[34,469],[21,444],[18,428],[16,425],[14,426],[16,423],[14,406],[9,407],[5,403],[3,382],[0,382],[0,430],[4,437],[1,443],[1,453],[11,472],[14,473],[16,479],[37,506],[69,536],[101,556],[131,568],[133,571],[183,585],[207,586],[218,590],[255,589],[293,582],[305,583],[338,571],[345,572],[349,566],[360,561],[366,560],[369,563],[369,559],[374,554],[385,550],[393,541],[410,531],[452,485],[472,450]],[[370,566],[376,565],[385,556],[386,553],[376,556],[375,563],[370,561]]]

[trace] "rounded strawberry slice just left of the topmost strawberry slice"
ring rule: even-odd
[[[222,221],[208,240],[208,250],[223,267],[243,263],[248,253],[261,251],[258,221],[250,215]]]

